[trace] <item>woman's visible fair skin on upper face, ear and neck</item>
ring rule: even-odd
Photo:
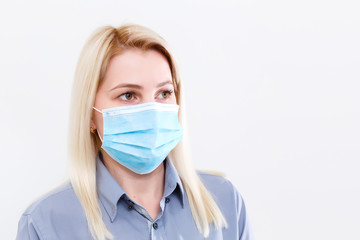
[[[166,58],[155,50],[128,49],[114,56],[100,83],[94,106],[106,108],[147,102],[176,104],[174,86]],[[103,137],[102,114],[93,111],[91,127]],[[154,171],[140,175],[112,159],[101,149],[104,165],[127,195],[143,206],[153,219],[160,212],[165,169],[160,164]]]

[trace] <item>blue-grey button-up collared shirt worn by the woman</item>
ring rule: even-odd
[[[124,192],[97,157],[97,188],[103,220],[114,239],[197,240],[188,198],[171,161],[165,160],[165,189],[161,211],[153,220],[144,207]],[[253,239],[244,201],[227,179],[199,173],[228,222],[228,228],[211,226],[208,240]],[[92,239],[80,202],[68,183],[32,203],[18,225],[18,240]]]

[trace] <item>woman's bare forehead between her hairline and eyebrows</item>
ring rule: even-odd
[[[145,84],[164,80],[171,80],[166,57],[156,50],[134,48],[111,58],[103,84],[112,85],[123,81]]]

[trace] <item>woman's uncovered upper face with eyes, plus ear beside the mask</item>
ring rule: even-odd
[[[107,67],[96,96],[99,110],[147,102],[176,104],[174,86],[166,58],[155,50],[125,50]],[[93,111],[91,127],[102,136],[102,114]]]

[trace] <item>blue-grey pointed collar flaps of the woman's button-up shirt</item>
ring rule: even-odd
[[[180,177],[176,168],[168,158],[165,159],[165,163],[164,197],[168,197],[173,192],[177,192],[181,206],[184,207],[185,191]],[[123,195],[126,195],[126,193],[105,167],[100,152],[96,157],[96,182],[99,199],[109,215],[111,222],[113,222],[117,213],[117,203]],[[178,191],[175,191],[177,189]]]

